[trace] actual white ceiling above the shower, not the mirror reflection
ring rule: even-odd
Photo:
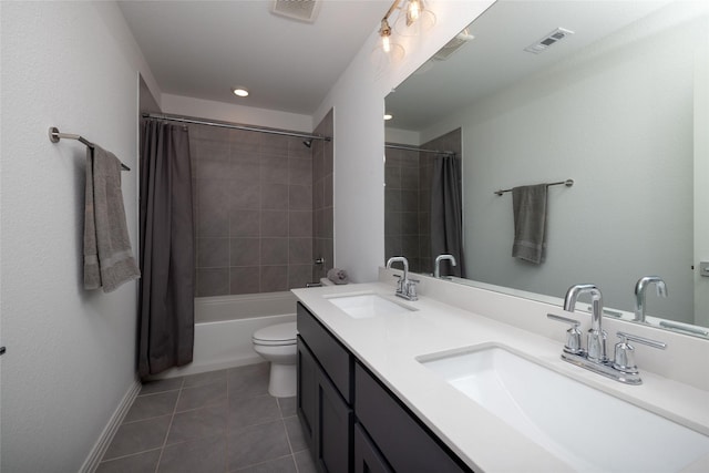
[[[163,93],[310,115],[391,0],[322,0],[314,23],[275,16],[270,4],[119,1]],[[250,95],[237,100],[233,85]]]

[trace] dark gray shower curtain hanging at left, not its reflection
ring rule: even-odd
[[[187,128],[145,120],[141,153],[138,374],[192,361],[194,225]]]

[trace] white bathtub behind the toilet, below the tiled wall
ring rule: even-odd
[[[264,361],[253,349],[251,335],[274,323],[296,321],[290,291],[195,298],[193,362],[156,378],[174,378]]]

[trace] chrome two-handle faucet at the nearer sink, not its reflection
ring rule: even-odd
[[[546,315],[546,317],[552,320],[572,326],[572,328],[566,331],[566,343],[564,345],[562,359],[626,384],[641,384],[643,380],[635,364],[634,348],[628,341],[635,341],[659,349],[664,349],[666,345],[647,338],[618,332],[617,335],[620,338],[620,342],[616,343],[614,360],[609,360],[606,356],[606,332],[602,328],[603,297],[600,290],[595,285],[572,286],[564,298],[564,310],[573,312],[576,307],[576,299],[585,292],[589,292],[593,299],[590,329],[588,330],[588,345],[586,350],[582,348],[582,332],[578,330],[580,322],[578,320],[555,316],[554,313]]]

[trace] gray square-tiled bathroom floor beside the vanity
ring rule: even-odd
[[[311,473],[295,398],[268,394],[268,364],[143,384],[97,473]]]

